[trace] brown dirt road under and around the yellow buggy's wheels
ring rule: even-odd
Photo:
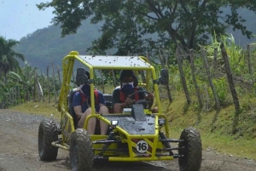
[[[59,150],[57,160],[38,157],[38,126],[42,116],[0,110],[0,171],[71,170],[68,151]],[[203,142],[202,142],[203,143]],[[95,162],[96,171],[177,171],[177,160],[166,162]],[[256,171],[256,162],[203,151],[201,171]]]

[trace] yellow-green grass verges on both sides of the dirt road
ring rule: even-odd
[[[161,101],[170,123],[171,138],[178,139],[183,128],[192,126],[201,133],[203,149],[212,148],[222,154],[256,160],[256,117],[253,108],[241,112],[236,125],[238,131],[232,134],[235,116],[233,105],[226,106],[216,113],[214,110],[200,111],[193,102],[192,105],[187,105],[183,94],[175,94],[172,104],[169,104],[167,99]],[[247,105],[250,104],[241,103],[241,106]],[[56,106],[54,103],[30,101],[12,107],[11,110],[47,117],[53,114],[56,119],[60,119],[61,115]]]

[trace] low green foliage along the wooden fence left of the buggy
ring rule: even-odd
[[[3,102],[5,107],[18,105],[29,100],[49,101],[47,97],[52,99],[57,93],[54,92],[54,89],[61,89],[57,79],[54,80],[51,76],[47,77],[43,73],[39,73],[38,68],[32,67],[27,62],[19,71],[9,71],[6,77],[9,80],[7,84],[4,84],[0,79],[0,91],[2,92],[0,102]]]

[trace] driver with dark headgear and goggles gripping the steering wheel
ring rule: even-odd
[[[129,97],[130,94],[136,91],[144,90],[143,88],[137,87],[138,81],[134,71],[132,70],[120,71],[119,81],[120,81],[120,87],[115,88],[113,90],[112,103],[113,103],[114,113],[122,113],[124,108],[131,107],[131,105],[135,103],[137,100],[143,100],[148,98],[154,99],[153,94],[148,94],[148,96],[145,96],[143,92],[134,94],[131,98]]]

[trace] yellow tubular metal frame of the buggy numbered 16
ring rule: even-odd
[[[145,63],[148,63],[148,59],[143,57],[143,56],[139,56],[140,59],[142,59]],[[61,94],[60,94],[60,99],[59,99],[59,104],[58,104],[58,111],[61,111],[61,129],[62,129],[62,134],[61,134],[61,138],[62,138],[62,142],[61,145],[56,145],[55,143],[53,143],[53,145],[60,147],[64,150],[69,150],[69,139],[71,134],[73,133],[74,129],[74,125],[73,125],[73,117],[71,116],[70,113],[68,113],[68,109],[67,109],[67,95],[69,93],[70,90],[70,82],[71,82],[71,77],[72,77],[72,72],[73,72],[73,65],[74,65],[74,61],[75,60],[79,60],[79,62],[81,62],[82,64],[84,64],[84,66],[87,66],[89,68],[90,71],[90,79],[94,79],[94,70],[95,69],[112,69],[112,70],[124,70],[124,69],[131,69],[131,67],[120,67],[120,66],[91,66],[89,63],[87,63],[85,60],[82,60],[79,57],[79,53],[76,51],[72,51],[70,52],[67,56],[64,57],[63,62],[62,62],[62,67],[63,67],[63,81],[62,81],[62,85],[61,85]],[[155,74],[155,70],[154,70],[154,66],[150,66],[148,64],[149,67],[145,68],[145,67],[140,67],[140,66],[133,66],[132,70],[136,71],[137,70],[144,70],[146,71],[146,87],[147,89],[149,89],[149,82],[150,82],[150,77],[149,77],[149,73],[152,73],[152,78],[154,80],[157,80],[156,78],[156,74]],[[158,118],[159,117],[163,117],[166,119],[166,124],[165,124],[165,130],[166,130],[166,137],[169,137],[169,130],[168,130],[168,124],[167,124],[167,118],[166,115],[162,114],[162,109],[161,109],[161,105],[160,105],[160,94],[159,94],[159,89],[156,83],[154,83],[154,96],[155,96],[155,100],[156,100],[156,105],[158,106],[158,110],[159,113],[155,114],[155,123],[154,123],[154,127],[155,127],[155,132],[154,134],[128,134],[124,129],[120,128],[119,126],[117,126],[116,128],[114,128],[115,132],[119,132],[119,134],[122,134],[123,137],[126,137],[126,139],[122,140],[125,143],[128,143],[129,146],[129,156],[130,157],[108,157],[109,161],[119,161],[119,162],[135,162],[135,161],[156,161],[156,160],[172,160],[173,157],[171,156],[162,156],[162,157],[156,157],[156,148],[159,148],[159,131],[160,131],[160,126],[158,123]],[[90,94],[94,94],[94,83],[90,83]],[[91,101],[94,101],[94,95],[91,96]],[[86,129],[88,126],[88,121],[90,118],[92,117],[96,117],[99,118],[100,120],[102,120],[105,123],[108,123],[108,125],[110,125],[110,121],[108,119],[106,119],[105,117],[102,117],[99,114],[96,114],[95,111],[95,104],[92,103],[91,104],[91,115],[89,117],[86,117],[85,122],[84,122],[84,128]],[[107,135],[91,135],[91,140],[101,140],[102,138],[107,138]],[[136,154],[134,153],[134,151],[132,151],[132,146],[135,145],[135,143],[132,141],[133,139],[138,139],[138,140],[145,140],[148,142],[148,145],[151,145],[152,147],[152,152],[148,153],[149,157],[136,157]],[[147,151],[148,152],[148,151]]]

